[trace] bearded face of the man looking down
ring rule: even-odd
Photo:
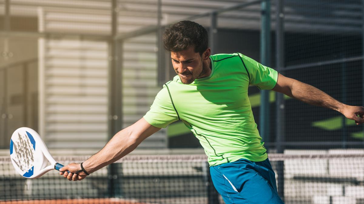
[[[193,46],[180,52],[171,52],[173,68],[182,83],[190,84],[201,76],[203,70],[202,57],[198,52],[195,52]]]

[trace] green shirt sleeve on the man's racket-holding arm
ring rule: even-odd
[[[178,121],[178,116],[173,108],[171,98],[169,97],[168,90],[165,85],[159,91],[154,99],[150,110],[143,116],[143,118],[154,127],[165,128],[170,123]]]

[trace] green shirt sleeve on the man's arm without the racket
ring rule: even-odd
[[[238,53],[243,61],[243,65],[248,70],[250,84],[259,89],[273,89],[277,84],[278,72],[272,68],[264,66],[252,58]]]

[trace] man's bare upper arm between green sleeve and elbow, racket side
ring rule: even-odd
[[[144,118],[141,118],[139,121],[135,122],[129,128],[130,135],[135,137],[135,140],[138,143],[141,143],[145,138],[154,134],[158,130],[161,130],[159,127],[154,127],[150,125]]]

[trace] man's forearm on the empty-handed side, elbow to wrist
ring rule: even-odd
[[[342,113],[342,110],[346,106],[344,103],[335,100],[325,92],[297,80],[294,80],[290,90],[290,93],[287,95],[310,105],[325,107],[339,111],[340,113]]]

